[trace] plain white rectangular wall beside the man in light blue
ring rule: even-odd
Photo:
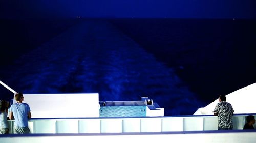
[[[99,117],[99,94],[24,94],[32,118]],[[13,99],[13,103],[16,100]]]

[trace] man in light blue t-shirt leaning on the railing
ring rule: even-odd
[[[17,103],[12,104],[10,108],[9,118],[13,119],[14,117],[14,133],[23,134],[30,133],[28,127],[28,119],[31,118],[30,107],[27,103],[22,103],[24,97],[22,93],[16,93],[14,95]]]

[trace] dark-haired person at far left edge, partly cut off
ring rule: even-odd
[[[8,134],[9,133],[9,128],[7,124],[7,113],[8,113],[8,105],[9,103],[5,100],[1,101],[1,107],[0,107],[0,133],[1,134]]]

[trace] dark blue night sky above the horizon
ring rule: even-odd
[[[254,0],[1,1],[1,17],[255,18]]]

